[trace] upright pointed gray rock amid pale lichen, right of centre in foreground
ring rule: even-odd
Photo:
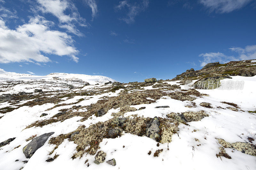
[[[154,117],[147,126],[146,136],[160,141],[160,123],[158,117]]]

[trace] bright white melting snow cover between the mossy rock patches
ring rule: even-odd
[[[253,61],[254,62],[254,61]],[[109,87],[110,85],[103,85],[105,82],[115,80],[104,76],[89,76],[81,74],[65,74],[53,73],[46,76],[36,76],[28,74],[0,74],[1,89],[0,95],[7,93],[18,93],[22,91],[33,92],[34,89],[43,89],[43,91],[73,91],[79,92],[84,90],[101,89]],[[53,77],[59,77],[60,80],[53,80]],[[25,129],[28,125],[38,120],[44,120],[52,117],[58,110],[72,108],[73,106],[88,106],[96,103],[104,96],[118,96],[122,89],[115,92],[108,92],[93,96],[75,96],[74,98],[62,98],[58,103],[70,104],[61,105],[51,110],[54,103],[45,103],[43,105],[35,105],[32,107],[22,106],[16,110],[8,113],[0,113],[0,142],[14,138],[9,145],[0,148],[0,169],[1,170],[17,170],[24,167],[24,170],[48,170],[48,169],[191,169],[191,170],[256,170],[256,156],[245,154],[236,149],[225,148],[226,153],[232,158],[216,157],[220,152],[222,146],[218,143],[219,139],[224,139],[226,142],[248,142],[248,138],[256,138],[256,115],[248,111],[256,110],[256,76],[242,77],[231,76],[233,81],[243,81],[244,87],[242,89],[198,89],[200,93],[208,96],[196,97],[193,101],[196,107],[186,107],[191,105],[190,101],[175,100],[169,96],[163,96],[156,100],[155,103],[133,105],[138,109],[137,111],[130,111],[124,113],[124,117],[136,115],[138,117],[162,117],[167,118],[169,113],[182,113],[186,111],[200,111],[204,110],[209,117],[204,117],[201,121],[188,122],[188,124],[179,124],[179,131],[172,135],[170,143],[157,143],[155,140],[146,136],[137,136],[131,133],[124,133],[117,138],[104,138],[100,142],[100,150],[107,153],[106,160],[99,165],[93,163],[95,155],[84,154],[81,158],[71,159],[72,155],[76,153],[76,144],[74,141],[65,139],[62,144],[54,150],[52,155],[49,155],[55,145],[49,144],[51,137],[57,137],[60,134],[67,134],[75,131],[79,126],[85,125],[89,127],[97,122],[105,122],[113,116],[112,113],[117,113],[120,108],[108,110],[108,112],[101,116],[90,116],[87,120],[79,121],[83,117],[75,116],[64,121],[55,122],[44,125],[43,127],[31,127]],[[43,80],[42,80],[43,79]],[[17,82],[24,81],[15,86],[7,86],[7,81]],[[230,79],[221,80],[221,84]],[[89,82],[91,85],[82,86],[83,82]],[[165,81],[171,85],[180,85],[178,81]],[[28,83],[28,84],[25,84]],[[80,89],[68,89],[66,84],[82,87]],[[99,83],[100,85],[94,85]],[[181,89],[171,90],[180,91],[186,89],[185,85],[180,85]],[[144,87],[144,89],[154,89],[152,86]],[[141,90],[144,90],[141,88]],[[140,89],[136,90],[140,91]],[[56,91],[58,93],[58,91]],[[54,94],[53,94],[54,95]],[[85,99],[80,103],[76,103],[79,99]],[[154,99],[153,99],[154,100]],[[28,102],[22,101],[23,103]],[[212,108],[205,108],[200,103],[210,103]],[[236,103],[239,109],[237,111],[228,109],[232,107],[221,102]],[[72,104],[75,103],[75,104]],[[11,103],[0,103],[0,108],[11,106]],[[169,106],[169,108],[156,108],[157,106]],[[139,110],[141,107],[146,107]],[[81,112],[86,109],[80,110]],[[42,113],[47,113],[45,117],[40,117]],[[39,148],[35,154],[27,159],[22,151],[30,141],[26,141],[32,135],[42,135],[48,132],[55,132],[47,142]],[[256,141],[252,141],[255,145]],[[20,145],[20,146],[19,146]],[[18,148],[15,148],[19,146]],[[153,153],[163,149],[158,157],[154,157]],[[152,154],[148,155],[151,151]],[[46,162],[49,157],[55,154],[59,156],[52,162]],[[111,166],[106,163],[110,159],[116,160],[116,166]],[[88,159],[89,166],[85,161]],[[18,161],[15,161],[18,160]],[[26,164],[25,161],[28,160]]]

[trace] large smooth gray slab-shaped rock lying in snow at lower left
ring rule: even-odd
[[[32,155],[44,145],[44,143],[47,141],[47,139],[53,134],[54,132],[50,133],[44,133],[43,135],[40,135],[36,138],[34,138],[31,142],[28,143],[23,148],[23,153],[25,154],[26,158],[31,158]]]

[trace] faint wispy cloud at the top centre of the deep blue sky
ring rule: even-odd
[[[128,13],[124,18],[121,18],[120,20],[123,20],[127,24],[132,24],[135,22],[135,17],[141,12],[144,11],[146,8],[148,8],[149,0],[142,0],[142,2],[130,4],[127,0],[120,1],[119,5],[115,6],[115,9],[120,11],[122,9],[127,8]]]

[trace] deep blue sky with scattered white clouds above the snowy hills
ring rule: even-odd
[[[0,73],[165,80],[255,40],[256,0],[0,0]]]

